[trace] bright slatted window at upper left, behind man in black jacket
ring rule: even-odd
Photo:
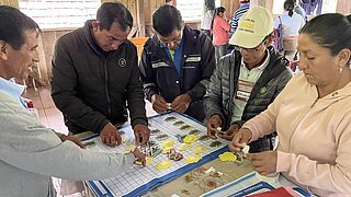
[[[20,10],[41,28],[77,28],[95,19],[100,0],[19,0]]]

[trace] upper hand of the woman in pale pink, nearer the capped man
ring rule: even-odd
[[[233,140],[228,147],[233,152],[239,152],[245,146],[247,146],[252,138],[251,130],[247,128],[240,128],[237,134],[234,135]]]

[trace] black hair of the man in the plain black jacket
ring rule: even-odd
[[[104,2],[98,10],[97,20],[101,30],[110,31],[112,23],[120,24],[123,31],[133,26],[133,16],[129,10],[121,2]]]

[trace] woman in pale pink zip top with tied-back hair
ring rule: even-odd
[[[350,40],[351,18],[329,13],[308,22],[297,44],[302,72],[241,127],[230,150],[276,130],[276,150],[248,154],[258,173],[282,173],[319,196],[351,195]]]

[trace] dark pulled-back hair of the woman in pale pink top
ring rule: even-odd
[[[308,34],[321,47],[328,48],[332,56],[340,50],[351,50],[351,16],[340,13],[321,14],[309,22],[301,30],[302,34]]]

